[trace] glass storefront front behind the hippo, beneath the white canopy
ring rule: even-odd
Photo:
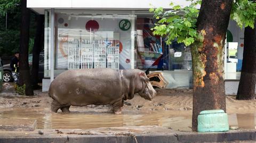
[[[46,10],[45,80],[51,77],[52,69],[50,15],[51,11]],[[162,70],[171,87],[189,88],[190,49],[176,41],[166,45],[164,37],[154,36],[150,30],[155,23],[152,13],[55,10],[54,16],[54,77],[71,69],[150,68]]]

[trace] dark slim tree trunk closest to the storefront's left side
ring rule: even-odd
[[[33,47],[33,62],[32,62],[32,69],[31,69],[31,80],[34,88],[37,88],[38,83],[38,70],[39,70],[39,55],[43,47],[43,30],[44,30],[44,15],[37,15],[36,16],[36,37],[34,40],[34,47]]]

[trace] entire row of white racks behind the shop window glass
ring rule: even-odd
[[[102,39],[74,39],[68,43],[68,69],[119,69],[119,46],[107,46]]]

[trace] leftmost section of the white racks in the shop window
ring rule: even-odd
[[[68,42],[68,69],[79,69],[79,39]]]

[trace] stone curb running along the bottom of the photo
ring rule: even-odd
[[[256,140],[256,130],[235,130],[229,132],[170,132],[170,133],[146,133],[127,135],[77,135],[77,134],[55,134],[54,136],[32,135],[0,137],[0,143],[20,142],[126,142],[126,143],[167,143],[167,142],[223,142],[238,140]]]

